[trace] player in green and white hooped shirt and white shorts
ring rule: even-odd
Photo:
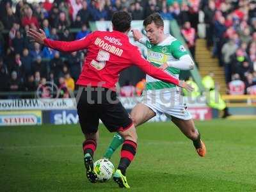
[[[179,77],[180,70],[191,70],[194,62],[185,47],[171,35],[164,34],[164,22],[159,13],[152,13],[144,20],[143,26],[147,32],[147,38],[143,38],[137,29],[132,30],[134,40],[147,47],[147,60],[156,67],[166,70],[170,76]],[[143,101],[136,104],[131,111],[131,117],[135,127],[141,125],[157,114],[164,113],[179,127],[190,140],[193,141],[196,152],[204,157],[206,148],[200,138],[200,133],[195,124],[186,103],[182,101],[181,90],[175,84],[164,83],[154,77],[146,77],[147,83],[143,92]],[[124,139],[116,133],[109,145],[104,158],[110,159],[116,148],[122,145]]]

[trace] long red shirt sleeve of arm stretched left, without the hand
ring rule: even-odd
[[[51,47],[52,49],[56,49],[61,52],[74,52],[88,48],[88,45],[90,45],[93,40],[93,36],[94,33],[90,33],[86,37],[72,42],[54,41],[46,38],[44,40],[44,44],[47,47]]]

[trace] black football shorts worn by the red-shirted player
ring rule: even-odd
[[[102,87],[80,87],[79,92],[77,114],[84,134],[97,132],[99,120],[110,132],[125,131],[132,126],[116,92]]]

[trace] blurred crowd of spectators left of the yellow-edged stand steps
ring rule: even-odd
[[[71,41],[90,33],[90,21],[110,20],[118,10],[130,12],[133,20],[143,20],[151,13],[159,12],[164,19],[177,19],[180,26],[184,26],[182,34],[194,54],[199,5],[199,0],[54,0],[52,3],[49,0],[39,3],[22,0],[16,4],[12,0],[2,0],[0,92],[39,89],[42,97],[52,97],[45,84],[50,82],[62,88],[63,79],[71,78],[74,82],[81,72],[86,51],[63,54],[41,47],[30,42],[26,35],[29,28],[43,29],[52,40]],[[74,90],[75,87],[71,87]],[[67,94],[62,96],[67,97]]]

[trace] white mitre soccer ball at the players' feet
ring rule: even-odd
[[[114,165],[107,159],[99,159],[94,163],[94,172],[97,174],[98,180],[106,182],[115,171]]]

